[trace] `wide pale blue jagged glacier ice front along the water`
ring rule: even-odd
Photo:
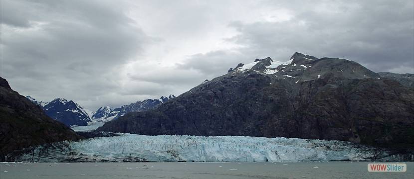
[[[16,162],[369,161],[384,151],[350,142],[241,136],[120,134],[39,146]]]

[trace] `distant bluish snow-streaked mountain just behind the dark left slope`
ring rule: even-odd
[[[39,102],[31,96],[26,96],[26,98],[39,105],[46,112],[46,115],[66,126],[86,126],[88,122],[91,122],[83,107],[72,100],[55,98],[50,102]]]

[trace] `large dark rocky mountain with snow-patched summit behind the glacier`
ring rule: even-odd
[[[414,148],[414,89],[341,58],[295,53],[239,64],[155,110],[98,131],[263,136]]]

